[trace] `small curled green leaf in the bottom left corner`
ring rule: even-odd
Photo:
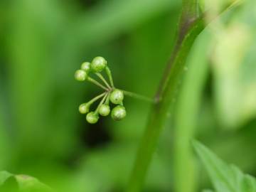
[[[10,178],[13,178],[14,181],[16,181],[16,184],[18,185],[20,191],[52,192],[52,190],[48,186],[38,181],[37,178],[26,175],[14,175],[10,174],[7,171],[0,171],[0,188],[4,186],[4,184]]]

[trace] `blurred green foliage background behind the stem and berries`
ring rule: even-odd
[[[210,3],[210,14],[223,6]],[[102,55],[117,87],[153,97],[180,9],[178,0],[0,0],[0,170],[60,191],[124,191],[150,105],[126,98],[122,122],[87,124],[78,106],[100,90],[73,75]],[[198,37],[144,191],[210,188],[192,138],[256,175],[255,13],[245,1]]]

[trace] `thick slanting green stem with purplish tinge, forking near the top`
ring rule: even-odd
[[[194,0],[184,0],[181,13],[181,21],[177,28],[176,44],[171,54],[171,60],[167,64],[164,76],[156,92],[149,120],[137,151],[134,169],[129,180],[128,192],[139,192],[146,177],[152,156],[156,149],[161,130],[164,129],[169,110],[173,107],[178,92],[178,85],[183,76],[186,58],[206,24],[204,15],[198,17],[198,10],[194,6]],[[188,14],[189,13],[189,14]],[[193,16],[191,19],[189,16]],[[210,20],[208,20],[210,22]]]

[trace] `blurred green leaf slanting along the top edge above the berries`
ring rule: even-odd
[[[170,11],[177,6],[177,2],[177,0],[103,1],[103,4],[99,4],[97,8],[78,18],[71,28],[72,38],[80,43],[104,41],[106,37],[112,38],[117,33],[134,28],[146,19]]]

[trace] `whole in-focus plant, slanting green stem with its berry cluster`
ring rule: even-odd
[[[230,9],[233,6],[238,5],[240,1],[234,1],[231,5],[228,5],[221,12],[226,9]],[[200,4],[196,0],[183,0],[181,17],[176,29],[176,44],[174,46],[171,59],[166,67],[166,71],[159,85],[159,90],[156,92],[154,97],[151,114],[149,115],[148,126],[144,137],[142,138],[139,150],[137,152],[137,159],[134,164],[134,169],[130,177],[129,186],[127,191],[140,191],[144,183],[144,178],[146,177],[146,172],[149,167],[152,154],[156,148],[156,143],[159,139],[161,130],[166,124],[166,119],[170,114],[173,114],[173,104],[176,100],[177,90],[179,88],[179,82],[182,79],[184,68],[186,68],[186,58],[188,53],[193,46],[194,41],[198,35],[203,31],[204,28],[213,20],[212,18],[206,19],[206,13],[201,11]],[[84,66],[83,66],[84,65]],[[90,67],[89,67],[90,66]],[[132,93],[123,90],[116,90],[114,88],[114,83],[112,81],[112,75],[110,68],[107,67],[107,61],[102,57],[97,57],[92,60],[92,64],[84,63],[82,64],[81,70],[84,68],[83,72],[78,70],[76,73],[77,80],[89,80],[106,90],[100,105],[98,105],[95,112],[90,112],[87,114],[87,122],[95,123],[98,120],[99,110],[102,111],[107,109],[107,112],[100,112],[102,116],[107,116],[110,114],[109,106],[103,103],[106,98],[110,97],[110,101],[118,105],[112,110],[112,119],[120,120],[126,116],[126,111],[123,106],[123,95],[131,95]],[[93,68],[92,71],[105,83],[107,87],[101,85],[99,82],[93,80],[88,76],[90,72],[89,68]],[[106,80],[100,75],[102,70],[106,70],[109,76],[111,86],[106,82]],[[85,72],[86,71],[86,72]],[[82,77],[80,77],[80,73]],[[110,93],[111,92],[111,93]],[[98,97],[98,96],[97,96]],[[142,96],[139,96],[142,97]],[[94,100],[94,99],[92,99]],[[146,100],[148,100],[146,98]],[[86,112],[89,107],[86,106]],[[104,110],[103,110],[104,109]],[[85,113],[82,111],[82,113]]]

